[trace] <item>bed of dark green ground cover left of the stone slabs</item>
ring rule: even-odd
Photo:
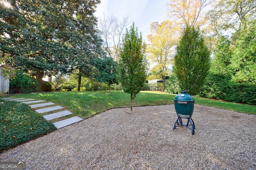
[[[0,152],[55,129],[26,104],[0,101]]]

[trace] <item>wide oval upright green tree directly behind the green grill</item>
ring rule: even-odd
[[[186,26],[174,56],[174,73],[182,90],[200,92],[210,68],[210,51],[199,28]]]

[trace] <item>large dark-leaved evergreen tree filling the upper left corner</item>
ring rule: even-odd
[[[74,64],[86,63],[88,56],[96,53],[91,50],[96,44],[97,20],[93,13],[99,2],[19,0],[11,1],[10,6],[0,3],[0,50],[11,55],[15,66],[32,72],[41,88],[44,73],[71,71]]]

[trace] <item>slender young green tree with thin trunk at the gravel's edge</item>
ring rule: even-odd
[[[146,82],[147,62],[145,57],[146,44],[142,41],[142,34],[134,22],[130,30],[126,29],[121,46],[120,60],[118,60],[118,82],[124,92],[131,94],[130,110],[132,112],[132,99],[136,97]]]

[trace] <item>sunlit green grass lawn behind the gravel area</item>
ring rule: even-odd
[[[141,91],[133,100],[133,106],[153,106],[173,104],[175,94],[166,94],[156,91]],[[86,118],[104,112],[110,108],[130,106],[130,94],[123,91],[96,91],[96,92],[49,92],[35,94],[20,94],[10,97],[34,98],[54,102],[72,112],[75,116]],[[256,106],[238,104],[219,100],[194,97],[196,104],[223,108],[242,113],[256,114]]]

